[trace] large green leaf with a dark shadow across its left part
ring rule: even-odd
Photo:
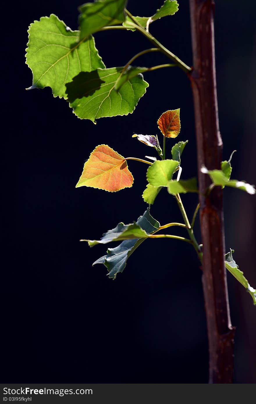
[[[148,83],[142,76],[125,82],[119,91],[114,86],[123,72],[123,67],[97,69],[81,72],[66,84],[68,101],[74,114],[81,119],[131,114],[139,99],[146,93]]]

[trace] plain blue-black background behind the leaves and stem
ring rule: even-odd
[[[72,4],[73,3],[73,4]],[[130,0],[134,15],[152,15],[163,0]],[[216,1],[216,69],[224,159],[233,156],[233,178],[256,182],[254,2]],[[119,221],[130,223],[146,210],[141,198],[146,165],[129,162],[131,189],[118,193],[75,185],[96,145],[106,143],[124,156],[148,149],[133,133],[156,134],[167,109],[181,109],[177,140],[184,150],[183,177],[196,175],[193,100],[184,73],[176,69],[144,75],[150,84],[133,114],[79,120],[51,89],[25,91],[32,73],[25,65],[28,25],[55,13],[77,28],[80,2],[26,1],[6,4],[2,23],[2,191],[6,202],[2,270],[2,377],[31,383],[207,383],[208,353],[201,272],[190,246],[148,240],[129,258],[113,282],[103,265],[91,267],[106,246],[90,249],[80,238],[99,238]],[[150,26],[153,35],[192,65],[188,1]],[[95,34],[107,67],[124,65],[150,47],[139,33]],[[139,65],[169,63],[158,54]],[[167,142],[170,151],[173,140]],[[191,217],[196,198],[185,195]],[[226,250],[252,286],[255,271],[255,196],[225,189]],[[162,191],[151,214],[161,224],[180,221],[173,197]],[[197,223],[196,233],[199,237]],[[182,235],[183,233],[179,233]],[[228,274],[235,337],[235,382],[256,382],[255,307]]]

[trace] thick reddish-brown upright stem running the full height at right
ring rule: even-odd
[[[224,267],[222,189],[203,194],[211,181],[201,173],[220,169],[222,139],[218,124],[214,52],[214,2],[190,0],[193,72],[188,74],[193,90],[197,164],[200,190],[200,222],[203,243],[203,292],[209,339],[209,383],[232,383],[233,338]]]

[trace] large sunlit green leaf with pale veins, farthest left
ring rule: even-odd
[[[72,31],[56,15],[41,17],[28,29],[26,64],[33,73],[28,88],[51,87],[54,97],[66,95],[66,83],[82,70],[105,67],[95,48],[94,38],[78,42],[79,32]]]

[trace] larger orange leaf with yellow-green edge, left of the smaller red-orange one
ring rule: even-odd
[[[123,188],[130,188],[132,184],[133,176],[128,170],[124,157],[108,145],[99,145],[85,162],[76,188],[85,186],[116,192]]]

